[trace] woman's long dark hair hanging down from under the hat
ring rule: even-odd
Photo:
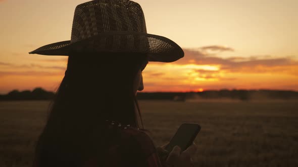
[[[72,53],[37,141],[38,166],[80,166],[90,155],[104,157],[115,137],[106,120],[140,128],[133,81],[147,62],[136,53]]]

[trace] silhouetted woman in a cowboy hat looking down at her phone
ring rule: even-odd
[[[167,153],[143,129],[135,98],[142,70],[148,61],[172,62],[184,53],[170,39],[146,33],[137,3],[81,4],[70,41],[30,53],[69,56],[33,166],[192,166],[195,145]]]

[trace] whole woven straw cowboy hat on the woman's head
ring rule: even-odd
[[[72,52],[145,53],[149,61],[173,62],[184,52],[172,40],[147,34],[139,4],[128,0],[95,0],[76,7],[71,40],[42,46],[30,54],[71,55]]]

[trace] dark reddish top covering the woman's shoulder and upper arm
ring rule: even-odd
[[[164,160],[161,160],[157,152],[156,146],[151,137],[144,131],[122,126],[120,128],[119,142],[109,147],[105,164],[97,161],[97,157],[93,156],[87,160],[83,167],[165,167]],[[36,161],[33,167],[38,167]]]

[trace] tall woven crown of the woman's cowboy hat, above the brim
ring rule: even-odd
[[[97,0],[76,7],[71,43],[111,31],[146,33],[141,7],[127,0]]]

